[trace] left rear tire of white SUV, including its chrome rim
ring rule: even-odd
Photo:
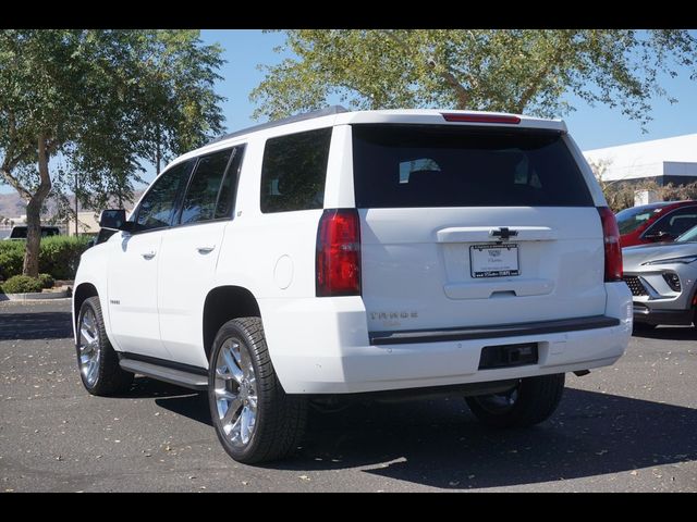
[[[307,423],[307,400],[283,390],[259,318],[234,319],[218,331],[208,402],[220,443],[245,464],[286,457],[297,448]]]

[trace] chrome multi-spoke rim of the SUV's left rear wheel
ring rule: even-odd
[[[244,343],[229,338],[216,359],[215,397],[222,432],[233,446],[252,439],[257,420],[257,383]]]

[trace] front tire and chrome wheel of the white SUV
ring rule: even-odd
[[[85,299],[80,308],[75,352],[83,385],[91,395],[107,397],[131,388],[134,375],[119,365],[119,356],[107,337],[98,297]]]

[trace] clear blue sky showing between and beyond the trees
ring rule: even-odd
[[[206,29],[201,32],[201,38],[206,44],[218,42],[224,49],[227,63],[220,70],[223,79],[216,89],[227,98],[223,114],[228,130],[258,123],[252,120],[255,108],[249,101],[249,92],[264,78],[257,65],[282,60],[283,57],[273,52],[273,48],[283,44],[283,34],[256,29]],[[570,101],[576,111],[563,117],[582,150],[697,133],[697,82],[689,80],[688,72],[684,71],[676,78],[661,78],[661,84],[678,101],[670,104],[664,98],[655,100],[653,120],[647,125],[647,133],[616,109],[592,108],[575,98],[570,98]],[[154,177],[154,169],[148,170],[144,176],[146,181]],[[0,192],[11,191],[9,186],[0,185]]]

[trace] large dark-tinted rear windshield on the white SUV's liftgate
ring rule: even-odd
[[[354,125],[356,207],[592,207],[559,133]]]

